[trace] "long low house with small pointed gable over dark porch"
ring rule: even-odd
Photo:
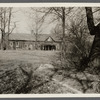
[[[36,41],[37,40],[37,41]],[[53,34],[10,34],[9,49],[12,50],[60,50],[61,41]]]

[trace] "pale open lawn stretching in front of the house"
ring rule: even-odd
[[[55,59],[56,51],[0,51],[0,60],[25,61],[33,65],[50,64]]]

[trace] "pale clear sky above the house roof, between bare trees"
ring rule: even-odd
[[[30,20],[29,13],[30,8],[14,8],[13,14],[13,22],[16,21],[16,29],[13,33],[31,33],[30,25],[32,21],[34,22],[34,18]],[[50,23],[50,16],[47,17],[46,21],[42,26],[41,34],[50,34],[52,28],[55,27],[55,23]]]

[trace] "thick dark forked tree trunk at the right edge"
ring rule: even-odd
[[[87,24],[91,35],[95,35],[89,54],[89,60],[94,67],[100,66],[100,23],[95,26],[91,7],[86,7]]]

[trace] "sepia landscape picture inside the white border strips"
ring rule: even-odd
[[[100,6],[37,5],[0,4],[0,95],[99,94]]]

